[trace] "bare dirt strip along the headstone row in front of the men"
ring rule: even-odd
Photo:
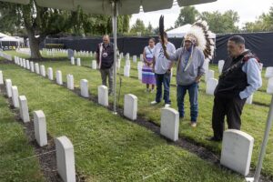
[[[49,80],[50,81],[50,80]],[[52,83],[56,84],[56,81],[51,81]],[[66,82],[63,82],[63,86],[66,87]],[[72,90],[70,90],[72,91]],[[80,88],[75,87],[75,90],[73,90],[72,92],[74,92],[77,96],[83,97],[80,94]],[[86,100],[92,101],[94,103],[96,103],[98,105],[97,102],[97,96],[94,96],[92,94],[89,93],[89,98],[83,97]],[[101,106],[101,105],[98,105]],[[109,111],[112,111],[113,108],[113,104],[109,103],[109,106],[106,107]],[[123,116],[123,108],[121,107],[117,107],[116,108],[117,114],[123,118],[126,118],[125,116]],[[143,116],[140,116],[139,114],[137,114],[137,119],[136,121],[131,121],[129,119],[126,118],[126,121],[135,123],[139,126],[145,126],[148,130],[153,131],[154,133],[156,133],[157,135],[160,135],[160,126],[158,124],[156,124],[154,121],[152,120],[147,120],[145,119]],[[163,138],[165,138],[164,136],[161,136]],[[52,137],[51,137],[52,138]],[[186,149],[187,151],[196,154],[198,157],[207,160],[208,162],[211,162],[215,165],[217,165],[217,167],[222,167],[219,164],[219,155],[213,153],[212,151],[210,151],[209,149],[207,149],[206,147],[202,147],[202,144],[198,144],[195,141],[192,141],[190,139],[188,139],[187,137],[181,137],[179,136],[179,139],[177,140],[177,142],[172,142],[170,140],[168,140],[167,138],[165,138],[168,142],[169,145],[174,145],[177,147],[181,147]],[[36,145],[37,146],[37,145]],[[47,156],[47,155],[46,155]],[[55,156],[54,156],[55,157]],[[229,170],[229,169],[228,169]],[[254,176],[255,171],[251,170],[248,174],[249,177],[253,177]],[[77,173],[78,174],[78,173]],[[78,181],[84,181],[84,178],[82,177],[77,177]],[[266,177],[266,176],[261,176],[261,180],[260,181],[265,181],[265,182],[272,182],[271,177]]]

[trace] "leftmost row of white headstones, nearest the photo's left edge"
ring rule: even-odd
[[[0,71],[0,85],[3,85],[3,73]],[[24,123],[30,122],[27,100],[19,96],[17,86],[12,86],[11,79],[5,79],[6,94],[12,99],[12,105],[20,111],[20,118]],[[42,110],[33,112],[35,126],[35,140],[40,147],[47,145],[45,114]],[[74,147],[66,136],[55,139],[57,171],[64,181],[76,181]]]

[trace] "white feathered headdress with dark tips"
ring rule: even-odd
[[[214,53],[214,42],[209,38],[210,34],[207,22],[197,21],[190,27],[187,35],[185,35],[184,42],[192,42],[193,45],[203,51],[205,58],[211,59]]]

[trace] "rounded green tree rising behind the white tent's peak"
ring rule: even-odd
[[[197,20],[197,15],[199,15],[199,13],[194,6],[186,6],[181,8],[180,14],[175,23],[175,27],[195,23]]]

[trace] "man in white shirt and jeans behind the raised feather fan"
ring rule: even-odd
[[[159,42],[157,43],[154,51],[154,59],[153,59],[153,70],[156,76],[156,84],[157,84],[157,95],[156,100],[151,102],[151,105],[156,105],[160,103],[162,98],[162,85],[164,86],[164,96],[165,106],[168,107],[171,104],[169,99],[169,83],[170,83],[170,75],[172,62],[164,56],[164,50],[162,47],[162,41],[159,36]],[[172,43],[167,41],[167,33],[164,33],[164,43],[167,47],[167,52],[175,53],[176,47]]]

